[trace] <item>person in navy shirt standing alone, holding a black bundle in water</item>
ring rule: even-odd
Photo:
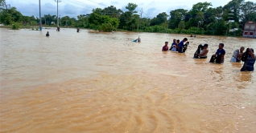
[[[223,49],[223,47],[224,47],[224,43],[220,43],[219,49],[217,50],[216,54],[213,54],[210,62],[216,62],[216,63],[224,62],[225,50]]]

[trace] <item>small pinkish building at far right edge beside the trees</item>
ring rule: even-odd
[[[256,38],[256,22],[246,22],[242,36]]]

